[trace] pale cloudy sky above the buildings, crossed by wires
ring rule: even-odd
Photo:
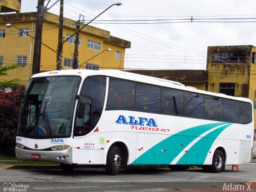
[[[21,12],[36,12],[22,0]],[[51,0],[50,7],[56,0]],[[128,40],[125,69],[206,70],[208,46],[256,46],[255,0],[120,0],[92,24]],[[48,0],[45,1],[45,6]],[[64,0],[64,17],[92,20],[114,0]],[[59,15],[60,2],[48,12]]]

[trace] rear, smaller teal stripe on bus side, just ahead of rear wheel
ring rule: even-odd
[[[177,164],[188,164],[188,165],[203,165],[206,156],[212,147],[212,144],[220,133],[225,130],[231,124],[226,124],[208,133],[206,136],[200,138],[187,152],[186,156],[182,156]]]

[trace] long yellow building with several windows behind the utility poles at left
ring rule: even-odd
[[[8,76],[5,78],[6,80],[19,78],[20,84],[26,86],[32,74],[34,39],[14,26],[7,28],[6,24],[8,23],[34,37],[36,12],[0,16],[0,66],[19,65],[19,68],[9,70]],[[46,12],[42,27],[42,43],[52,50],[42,45],[40,72],[57,68],[58,24],[59,16]],[[63,26],[63,38],[66,40],[76,32],[76,21],[64,18]],[[81,24],[80,28],[83,26],[84,24]],[[75,36],[63,44],[63,70],[72,69],[74,43]],[[123,70],[125,49],[130,48],[130,45],[131,42],[111,36],[110,32],[106,30],[86,26],[79,32],[78,62],[81,65],[80,68]],[[107,49],[111,49],[111,51],[105,51]]]

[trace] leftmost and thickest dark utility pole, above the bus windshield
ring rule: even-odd
[[[44,0],[38,0],[37,14],[36,14],[36,34],[34,43],[34,54],[32,64],[32,75],[40,72],[41,60],[41,44],[42,44],[42,26],[44,19]]]

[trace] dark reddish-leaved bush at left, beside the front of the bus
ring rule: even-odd
[[[0,92],[0,155],[15,156],[15,139],[18,126],[18,114],[22,98],[15,98],[15,114],[12,109],[12,96],[18,93],[24,93],[25,87],[20,90],[12,88],[12,91]]]

